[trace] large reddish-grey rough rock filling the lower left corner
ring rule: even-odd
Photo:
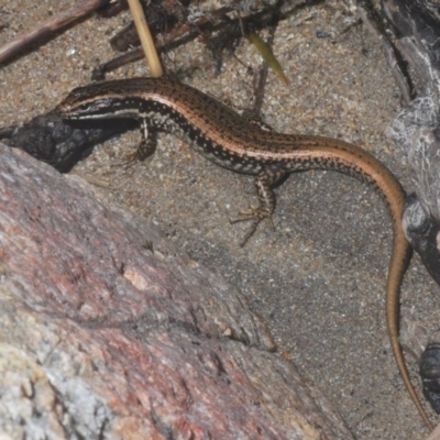
[[[351,438],[270,352],[244,297],[142,221],[0,148],[4,438]]]

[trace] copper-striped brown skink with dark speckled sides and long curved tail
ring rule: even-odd
[[[238,173],[256,175],[260,206],[237,221],[257,224],[275,209],[273,186],[286,174],[310,168],[344,173],[373,185],[384,197],[393,219],[394,244],[386,283],[387,329],[404,383],[427,426],[432,425],[409,380],[398,341],[399,292],[410,250],[400,224],[405,193],[394,175],[375,157],[343,141],[261,129],[220,101],[166,78],[132,78],[74,89],[58,106],[65,119],[133,118],[147,127],[188,140],[205,157]]]

